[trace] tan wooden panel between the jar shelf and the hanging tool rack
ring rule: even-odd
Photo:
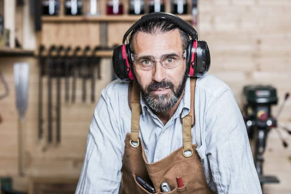
[[[108,47],[121,45],[124,33],[133,23],[109,22],[107,35]],[[85,47],[87,45],[94,48],[100,45],[100,35],[104,37],[104,34],[100,34],[99,22],[45,23],[43,25],[41,43],[46,47],[57,44],[71,46],[72,48],[77,46]]]

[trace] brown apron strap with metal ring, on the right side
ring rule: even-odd
[[[195,113],[194,113],[195,84],[196,84],[196,78],[191,78],[190,79],[190,85],[191,85],[190,113],[188,115],[186,115],[184,118],[182,118],[183,156],[184,157],[191,157],[193,155],[191,129],[195,125]],[[186,155],[186,153],[185,153],[186,151],[191,151],[191,153]]]

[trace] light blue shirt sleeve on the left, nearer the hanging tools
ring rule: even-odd
[[[75,194],[118,194],[124,146],[113,107],[103,90],[90,124]]]

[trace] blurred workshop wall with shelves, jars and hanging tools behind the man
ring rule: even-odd
[[[74,193],[97,100],[115,79],[112,49],[141,14],[153,10],[154,0],[140,1],[137,11],[129,1],[134,2],[119,0],[116,9],[115,0],[0,0],[2,193]],[[177,9],[178,1],[161,0],[160,8],[179,14],[207,41],[209,73],[230,86],[242,109],[245,85],[271,84],[278,97],[275,115],[291,92],[291,0],[182,0]],[[21,121],[16,101],[23,99],[17,97],[15,76],[17,68],[25,73],[25,64],[16,63],[30,65],[28,84],[25,76],[20,80],[28,85]],[[278,123],[291,129],[290,100]],[[19,129],[25,133],[22,166]],[[291,148],[284,148],[279,135],[287,144],[291,136],[277,130],[268,134],[263,169],[280,182],[265,184],[264,194],[291,193]]]

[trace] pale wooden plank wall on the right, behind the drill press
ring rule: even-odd
[[[198,33],[211,53],[210,74],[225,81],[242,106],[246,84],[271,84],[279,104],[291,92],[290,0],[199,0]],[[276,114],[278,106],[273,106]],[[291,129],[291,100],[279,123]],[[291,137],[281,131],[291,144]],[[290,194],[291,147],[283,148],[278,134],[268,135],[264,171],[280,184],[264,186],[264,194]]]

